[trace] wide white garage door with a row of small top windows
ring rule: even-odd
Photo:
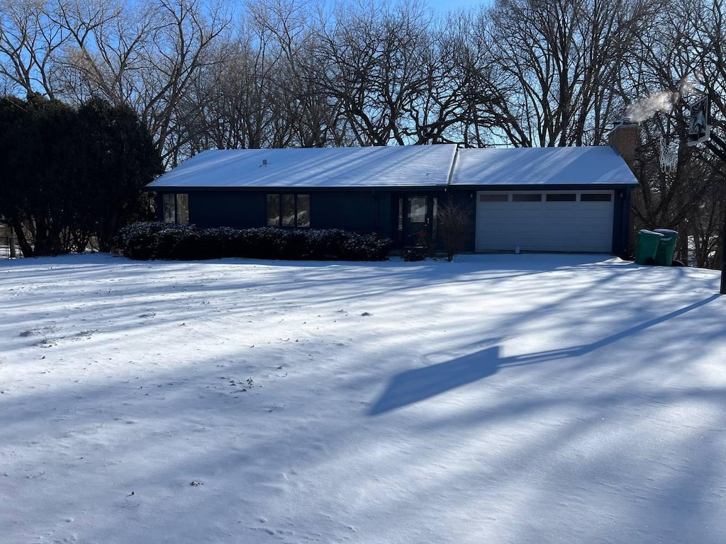
[[[613,191],[478,191],[476,250],[611,252]]]

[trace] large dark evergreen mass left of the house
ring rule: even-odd
[[[143,214],[143,186],[163,171],[144,125],[97,99],[78,110],[38,94],[0,104],[0,213],[23,255],[110,250],[118,229]]]

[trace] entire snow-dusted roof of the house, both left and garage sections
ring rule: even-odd
[[[147,189],[444,187],[447,184],[637,186],[637,180],[612,147],[457,149],[454,144],[442,144],[211,150],[160,176]]]

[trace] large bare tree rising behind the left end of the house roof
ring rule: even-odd
[[[229,14],[201,0],[152,0],[129,9],[103,1],[59,4],[57,25],[73,40],[57,59],[64,94],[130,104],[172,167],[184,158],[179,103],[197,72],[219,62],[213,45]]]

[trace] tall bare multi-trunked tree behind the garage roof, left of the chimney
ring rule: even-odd
[[[478,17],[488,47],[481,104],[497,139],[521,147],[600,144],[630,41],[659,9],[644,0],[500,0]]]

